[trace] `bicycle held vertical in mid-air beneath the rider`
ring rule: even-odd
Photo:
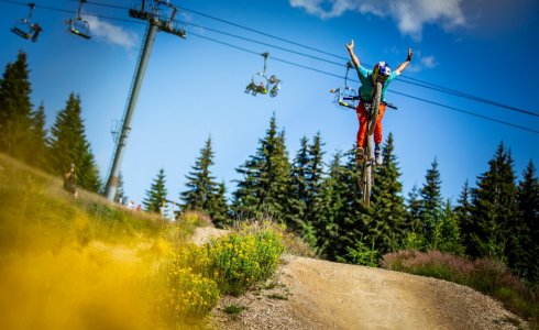
[[[375,163],[374,148],[373,148],[373,144],[374,144],[373,133],[374,133],[374,128],[376,127],[376,120],[378,118],[380,105],[383,103],[386,107],[397,109],[397,107],[393,106],[392,103],[387,103],[381,100],[382,88],[383,88],[382,82],[376,82],[374,87],[373,99],[371,101],[361,100],[365,107],[366,114],[367,114],[367,129],[365,131],[366,144],[364,147],[364,156],[363,156],[363,161],[359,164],[361,168],[359,186],[362,191],[363,205],[366,208],[369,208],[371,205],[371,193],[374,185],[374,166],[376,165],[376,163]],[[358,101],[360,100],[360,97],[343,97],[342,99],[343,101],[346,100]]]

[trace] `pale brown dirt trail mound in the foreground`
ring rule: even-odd
[[[198,232],[197,238],[201,237],[205,233]],[[223,297],[212,312],[215,326],[295,330],[526,328],[501,302],[469,287],[381,268],[286,255],[272,283],[271,288],[242,297]],[[223,311],[231,305],[245,310],[231,317]]]

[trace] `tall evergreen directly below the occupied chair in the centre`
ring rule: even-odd
[[[237,180],[233,210],[240,217],[283,217],[294,228],[294,220],[286,219],[290,209],[290,164],[285,146],[285,132],[277,132],[275,113],[270,121],[266,136],[258,144],[256,154],[237,168],[243,178]]]

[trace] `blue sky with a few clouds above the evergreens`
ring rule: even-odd
[[[32,19],[44,31],[31,43],[10,32],[18,18],[28,15],[26,2],[0,0],[2,73],[20,50],[28,53],[32,101],[36,107],[44,103],[48,125],[72,91],[80,95],[87,138],[106,179],[114,147],[110,131],[125,109],[145,24],[129,18],[131,0],[88,1],[82,16],[90,23],[91,38],[84,40],[69,34],[64,23],[76,15],[77,1],[34,2]],[[536,167],[539,164],[538,133],[496,122],[539,131],[539,40],[534,35],[539,31],[539,11],[535,0],[172,3],[180,8],[177,19],[184,22],[187,38],[160,32],[152,50],[121,166],[125,194],[135,204],[145,197],[162,167],[168,197],[177,200],[185,190],[185,175],[210,135],[216,162],[212,173],[231,193],[235,189],[232,180],[240,178],[235,168],[255,153],[273,113],[286,132],[290,160],[300,138],[311,140],[317,132],[328,161],[338,150],[348,151],[355,141],[355,113],[336,107],[328,92],[342,86],[343,79],[317,70],[343,76],[344,44],[352,38],[360,61],[370,65],[386,61],[396,68],[405,61],[407,48],[414,50],[411,65],[387,92],[387,100],[398,110],[387,110],[384,118],[384,138],[394,134],[405,195],[414,185],[424,184],[436,158],[442,195],[454,201],[466,179],[475,186],[477,176],[487,170],[487,162],[502,141],[512,151],[519,178],[530,160]],[[237,47],[270,52],[267,72],[283,80],[276,98],[243,92],[252,74],[262,70],[263,57]],[[358,79],[354,73],[351,78]],[[410,79],[535,114],[406,82]]]

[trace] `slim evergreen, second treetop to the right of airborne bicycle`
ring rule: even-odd
[[[425,223],[426,233],[425,238],[427,244],[432,243],[433,230],[438,226],[438,221],[441,221],[442,217],[442,197],[441,197],[441,179],[440,172],[438,170],[438,161],[431,164],[431,168],[427,170],[425,176],[425,185],[420,191],[420,218]]]

